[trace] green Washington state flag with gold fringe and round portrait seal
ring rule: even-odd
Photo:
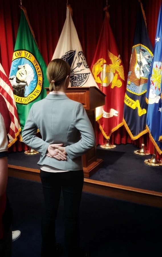
[[[33,103],[46,97],[46,69],[23,7],[9,75],[22,130]]]

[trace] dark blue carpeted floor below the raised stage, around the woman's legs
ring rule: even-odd
[[[12,257],[40,257],[42,186],[9,177],[7,195],[13,208]],[[162,255],[162,210],[83,192],[80,207],[81,246],[91,257],[157,257]],[[64,248],[63,198],[56,221],[57,241]],[[47,256],[48,257],[48,256]],[[77,256],[76,256],[77,257]]]

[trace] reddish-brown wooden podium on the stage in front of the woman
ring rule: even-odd
[[[46,88],[47,94],[49,88]],[[96,135],[96,112],[95,108],[105,104],[105,94],[102,93],[97,87],[68,87],[66,95],[69,99],[83,104],[87,115],[92,123]],[[89,178],[100,167],[103,162],[102,159],[97,159],[96,146],[89,150],[82,156],[84,176]]]

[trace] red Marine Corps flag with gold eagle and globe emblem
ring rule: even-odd
[[[126,82],[122,59],[109,24],[108,7],[105,7],[104,11],[106,11],[105,18],[91,71],[97,85],[106,95],[102,115],[97,121],[103,136],[110,139],[112,132],[123,125]],[[99,144],[102,144],[101,142],[103,138],[99,138]]]

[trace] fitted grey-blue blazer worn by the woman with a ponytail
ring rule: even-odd
[[[36,136],[39,129],[42,139]],[[80,138],[81,133],[81,138]],[[25,144],[41,153],[38,164],[62,170],[81,170],[81,156],[96,144],[93,127],[83,105],[66,95],[48,94],[34,103],[22,132]],[[67,160],[46,156],[49,144],[63,143]]]

